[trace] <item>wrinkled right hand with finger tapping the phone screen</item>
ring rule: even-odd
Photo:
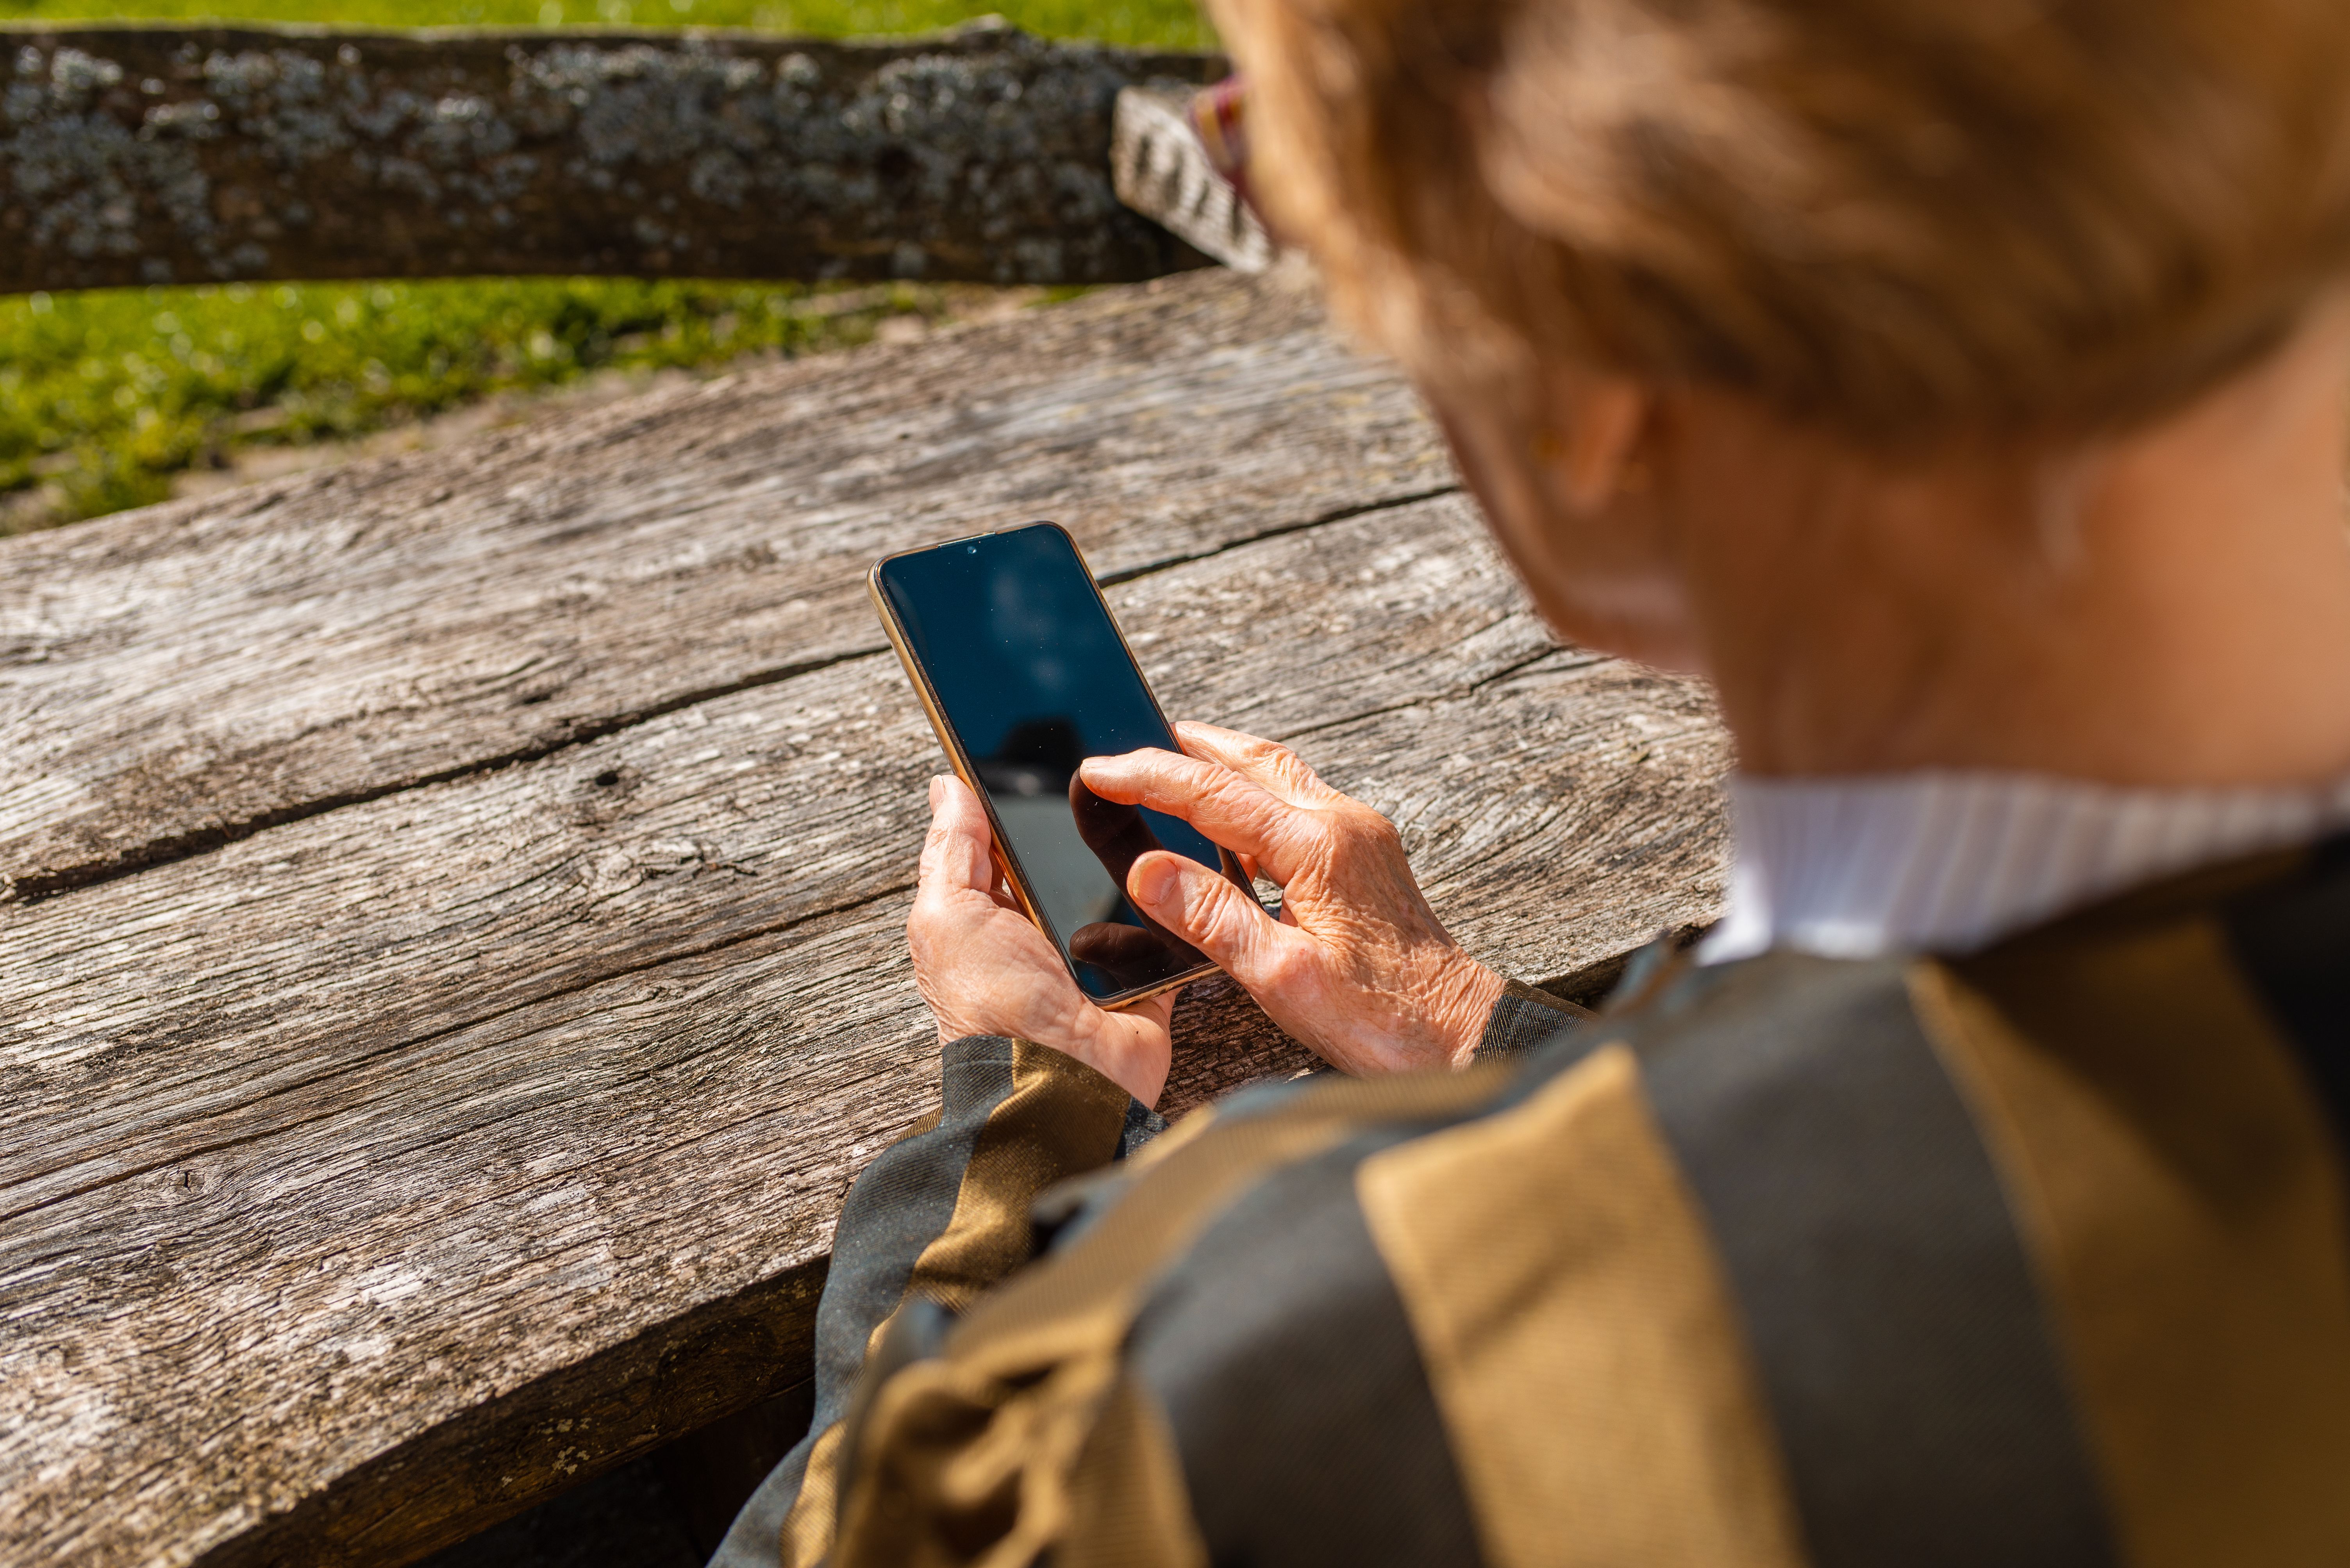
[[[1396,826],[1269,739],[1177,725],[1184,751],[1090,758],[1107,800],[1182,817],[1281,885],[1281,920],[1182,854],[1126,876],[1140,911],[1241,981],[1274,1023],[1342,1073],[1466,1066],[1502,995],[1419,894]]]

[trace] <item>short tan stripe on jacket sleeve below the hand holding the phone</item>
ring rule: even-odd
[[[1109,1164],[1126,1129],[1128,1094],[1086,1063],[1027,1040],[1013,1042],[1013,1091],[971,1145],[954,1216],[907,1279],[964,1312],[1029,1258],[1029,1207],[1058,1181]]]

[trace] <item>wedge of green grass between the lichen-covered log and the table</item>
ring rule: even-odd
[[[0,495],[21,526],[164,500],[254,444],[348,439],[583,371],[872,338],[938,289],[508,279],[230,284],[0,300]],[[841,310],[848,305],[848,310]],[[0,521],[0,530],[7,521]]]

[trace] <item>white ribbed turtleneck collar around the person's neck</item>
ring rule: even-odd
[[[1967,953],[2138,883],[2350,824],[2324,789],[2110,789],[2009,772],[1730,782],[1730,913],[1699,962]]]

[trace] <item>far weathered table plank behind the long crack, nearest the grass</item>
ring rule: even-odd
[[[1450,486],[1295,277],[1213,272],[0,540],[0,897],[870,653],[886,549],[1048,514],[1123,575]]]

